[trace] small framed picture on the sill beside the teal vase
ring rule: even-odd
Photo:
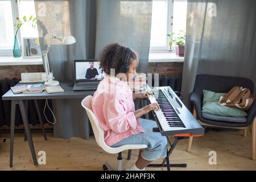
[[[41,57],[39,38],[23,38],[23,57]]]

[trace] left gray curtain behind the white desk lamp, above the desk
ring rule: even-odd
[[[73,60],[93,59],[95,47],[95,1],[35,0],[40,46],[48,52],[49,67],[59,81],[73,81]],[[63,46],[51,35],[73,35],[76,43]]]

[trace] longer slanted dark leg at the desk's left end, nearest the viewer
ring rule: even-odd
[[[25,128],[25,131],[26,131],[26,134],[27,134],[28,143],[30,144],[30,151],[31,151],[31,154],[32,154],[34,165],[37,166],[38,161],[36,160],[35,148],[34,148],[34,144],[33,144],[31,133],[30,133],[30,127],[28,126],[28,119],[27,119],[27,115],[26,115],[24,101],[19,100],[18,102],[19,102],[19,109],[20,109],[20,113],[22,115],[24,128]]]

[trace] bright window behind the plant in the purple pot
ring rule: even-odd
[[[153,0],[150,51],[170,49],[167,34],[186,30],[187,0]]]

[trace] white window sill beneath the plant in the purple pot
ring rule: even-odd
[[[148,63],[184,62],[184,57],[176,55],[176,52],[150,52]]]

